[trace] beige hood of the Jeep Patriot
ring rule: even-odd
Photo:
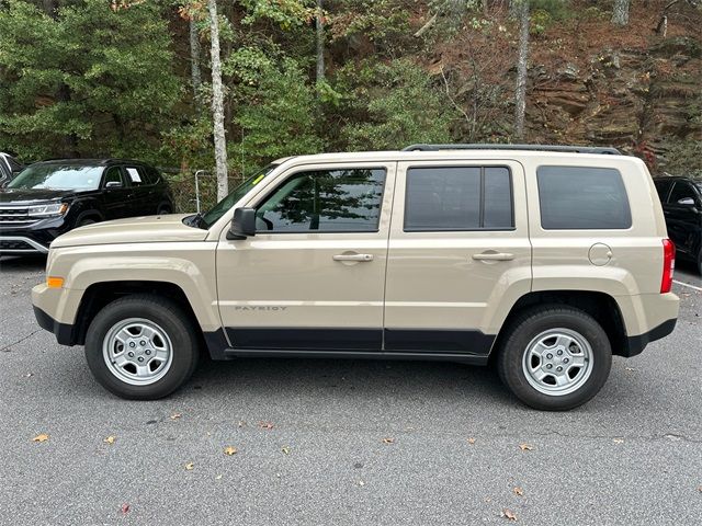
[[[167,241],[202,241],[207,230],[183,225],[192,214],[131,217],[95,222],[77,228],[52,241],[52,249],[115,243],[158,243]]]

